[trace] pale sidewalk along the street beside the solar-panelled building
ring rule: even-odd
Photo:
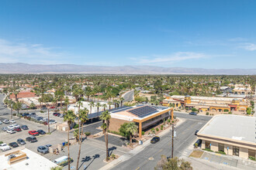
[[[178,127],[180,124],[182,124],[184,122],[184,120],[182,118],[179,118],[178,123],[176,124],[176,127]],[[171,130],[171,126],[167,129],[165,129],[164,131],[161,131],[161,133],[158,134],[158,136],[163,136],[164,134],[167,134],[169,131]],[[134,155],[137,155],[138,153],[140,153],[140,151],[144,150],[144,148],[147,147],[147,145],[150,145],[150,140],[147,140],[144,142],[143,145],[139,145],[136,148],[134,148],[133,150],[129,151],[128,153],[126,153],[125,155],[120,156],[118,159],[110,162],[109,164],[103,166],[102,168],[100,168],[99,170],[106,170],[106,169],[111,169],[113,168],[115,165],[118,165],[121,162],[125,162],[127,160],[129,160],[130,158],[132,158]]]

